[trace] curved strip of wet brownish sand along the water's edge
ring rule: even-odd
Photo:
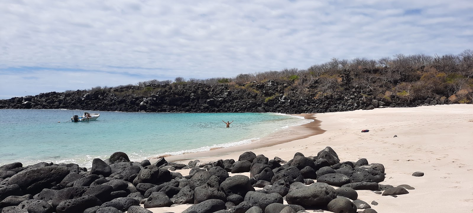
[[[184,160],[191,160],[191,159],[200,159],[200,158],[215,158],[223,155],[228,155],[234,152],[239,151],[248,151],[254,150],[258,148],[265,148],[265,147],[272,147],[274,145],[288,143],[300,139],[305,139],[317,134],[322,134],[325,130],[320,128],[320,124],[322,121],[317,120],[315,117],[316,113],[308,113],[308,114],[286,114],[286,115],[295,115],[301,116],[305,119],[314,120],[307,124],[302,124],[299,126],[291,126],[287,130],[277,131],[275,133],[269,134],[261,139],[252,141],[247,144],[241,144],[226,148],[217,148],[211,149],[209,151],[200,151],[200,152],[190,152],[184,153],[180,155],[164,155],[164,156],[157,156],[148,159],[151,163],[158,161],[160,158],[166,158],[168,161],[175,161],[175,162],[182,162]],[[279,132],[279,133],[278,133]]]

